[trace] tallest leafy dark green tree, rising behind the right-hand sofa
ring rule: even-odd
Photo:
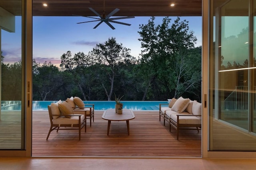
[[[186,54],[194,48],[196,42],[196,37],[193,31],[189,31],[186,20],[180,21],[178,17],[170,25],[171,19],[166,17],[161,25],[155,26],[154,19],[152,17],[148,24],[140,25],[141,31],[138,32],[143,48],[140,64],[145,91],[142,100],[163,92],[168,95],[166,98],[176,96],[178,89],[182,88],[180,81],[185,75],[184,66],[189,68]],[[155,89],[159,92],[156,93]]]

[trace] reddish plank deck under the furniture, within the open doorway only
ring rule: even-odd
[[[159,121],[158,111],[134,111],[130,121],[130,135],[125,121],[112,121],[107,135],[108,121],[103,111],[96,111],[94,123],[87,132],[82,129],[78,141],[77,130],[52,131],[48,111],[33,111],[32,156],[133,156],[133,157],[201,157],[201,131],[181,130],[179,141],[176,130]]]

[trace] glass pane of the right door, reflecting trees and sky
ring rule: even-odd
[[[212,2],[209,150],[255,151],[255,1]]]

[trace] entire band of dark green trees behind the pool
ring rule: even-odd
[[[97,44],[87,55],[61,56],[60,68],[33,60],[33,100],[167,100],[190,98],[201,102],[201,47],[188,22],[166,17],[161,25],[140,25],[140,57],[114,37]],[[3,64],[2,64],[3,65]],[[2,82],[5,80],[2,80]]]

